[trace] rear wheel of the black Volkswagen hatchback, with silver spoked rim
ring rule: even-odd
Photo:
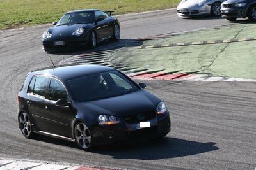
[[[18,117],[18,122],[20,131],[22,132],[25,138],[32,139],[35,137],[31,119],[29,118],[28,113],[20,113]]]

